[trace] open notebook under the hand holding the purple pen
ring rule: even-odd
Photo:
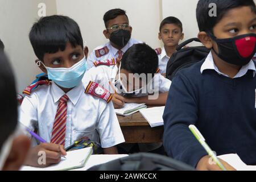
[[[59,164],[53,164],[45,168],[23,166],[20,171],[67,171],[82,168],[85,166],[90,155],[92,155],[92,147],[82,148],[67,152],[66,159],[61,159]]]

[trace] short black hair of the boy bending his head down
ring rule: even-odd
[[[158,69],[158,55],[145,43],[134,44],[122,56],[121,69],[131,73],[151,73]]]

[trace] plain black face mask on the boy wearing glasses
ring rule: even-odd
[[[110,34],[110,41],[118,47],[124,47],[131,39],[131,32],[129,30],[119,29]]]

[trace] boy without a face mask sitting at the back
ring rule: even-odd
[[[159,73],[165,76],[167,63],[184,38],[183,26],[179,19],[169,16],[160,23],[159,31],[158,38],[163,41],[164,47],[156,48],[155,51],[158,54]]]

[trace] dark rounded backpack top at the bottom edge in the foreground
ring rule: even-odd
[[[138,153],[94,166],[89,171],[195,171],[195,168],[167,156]]]

